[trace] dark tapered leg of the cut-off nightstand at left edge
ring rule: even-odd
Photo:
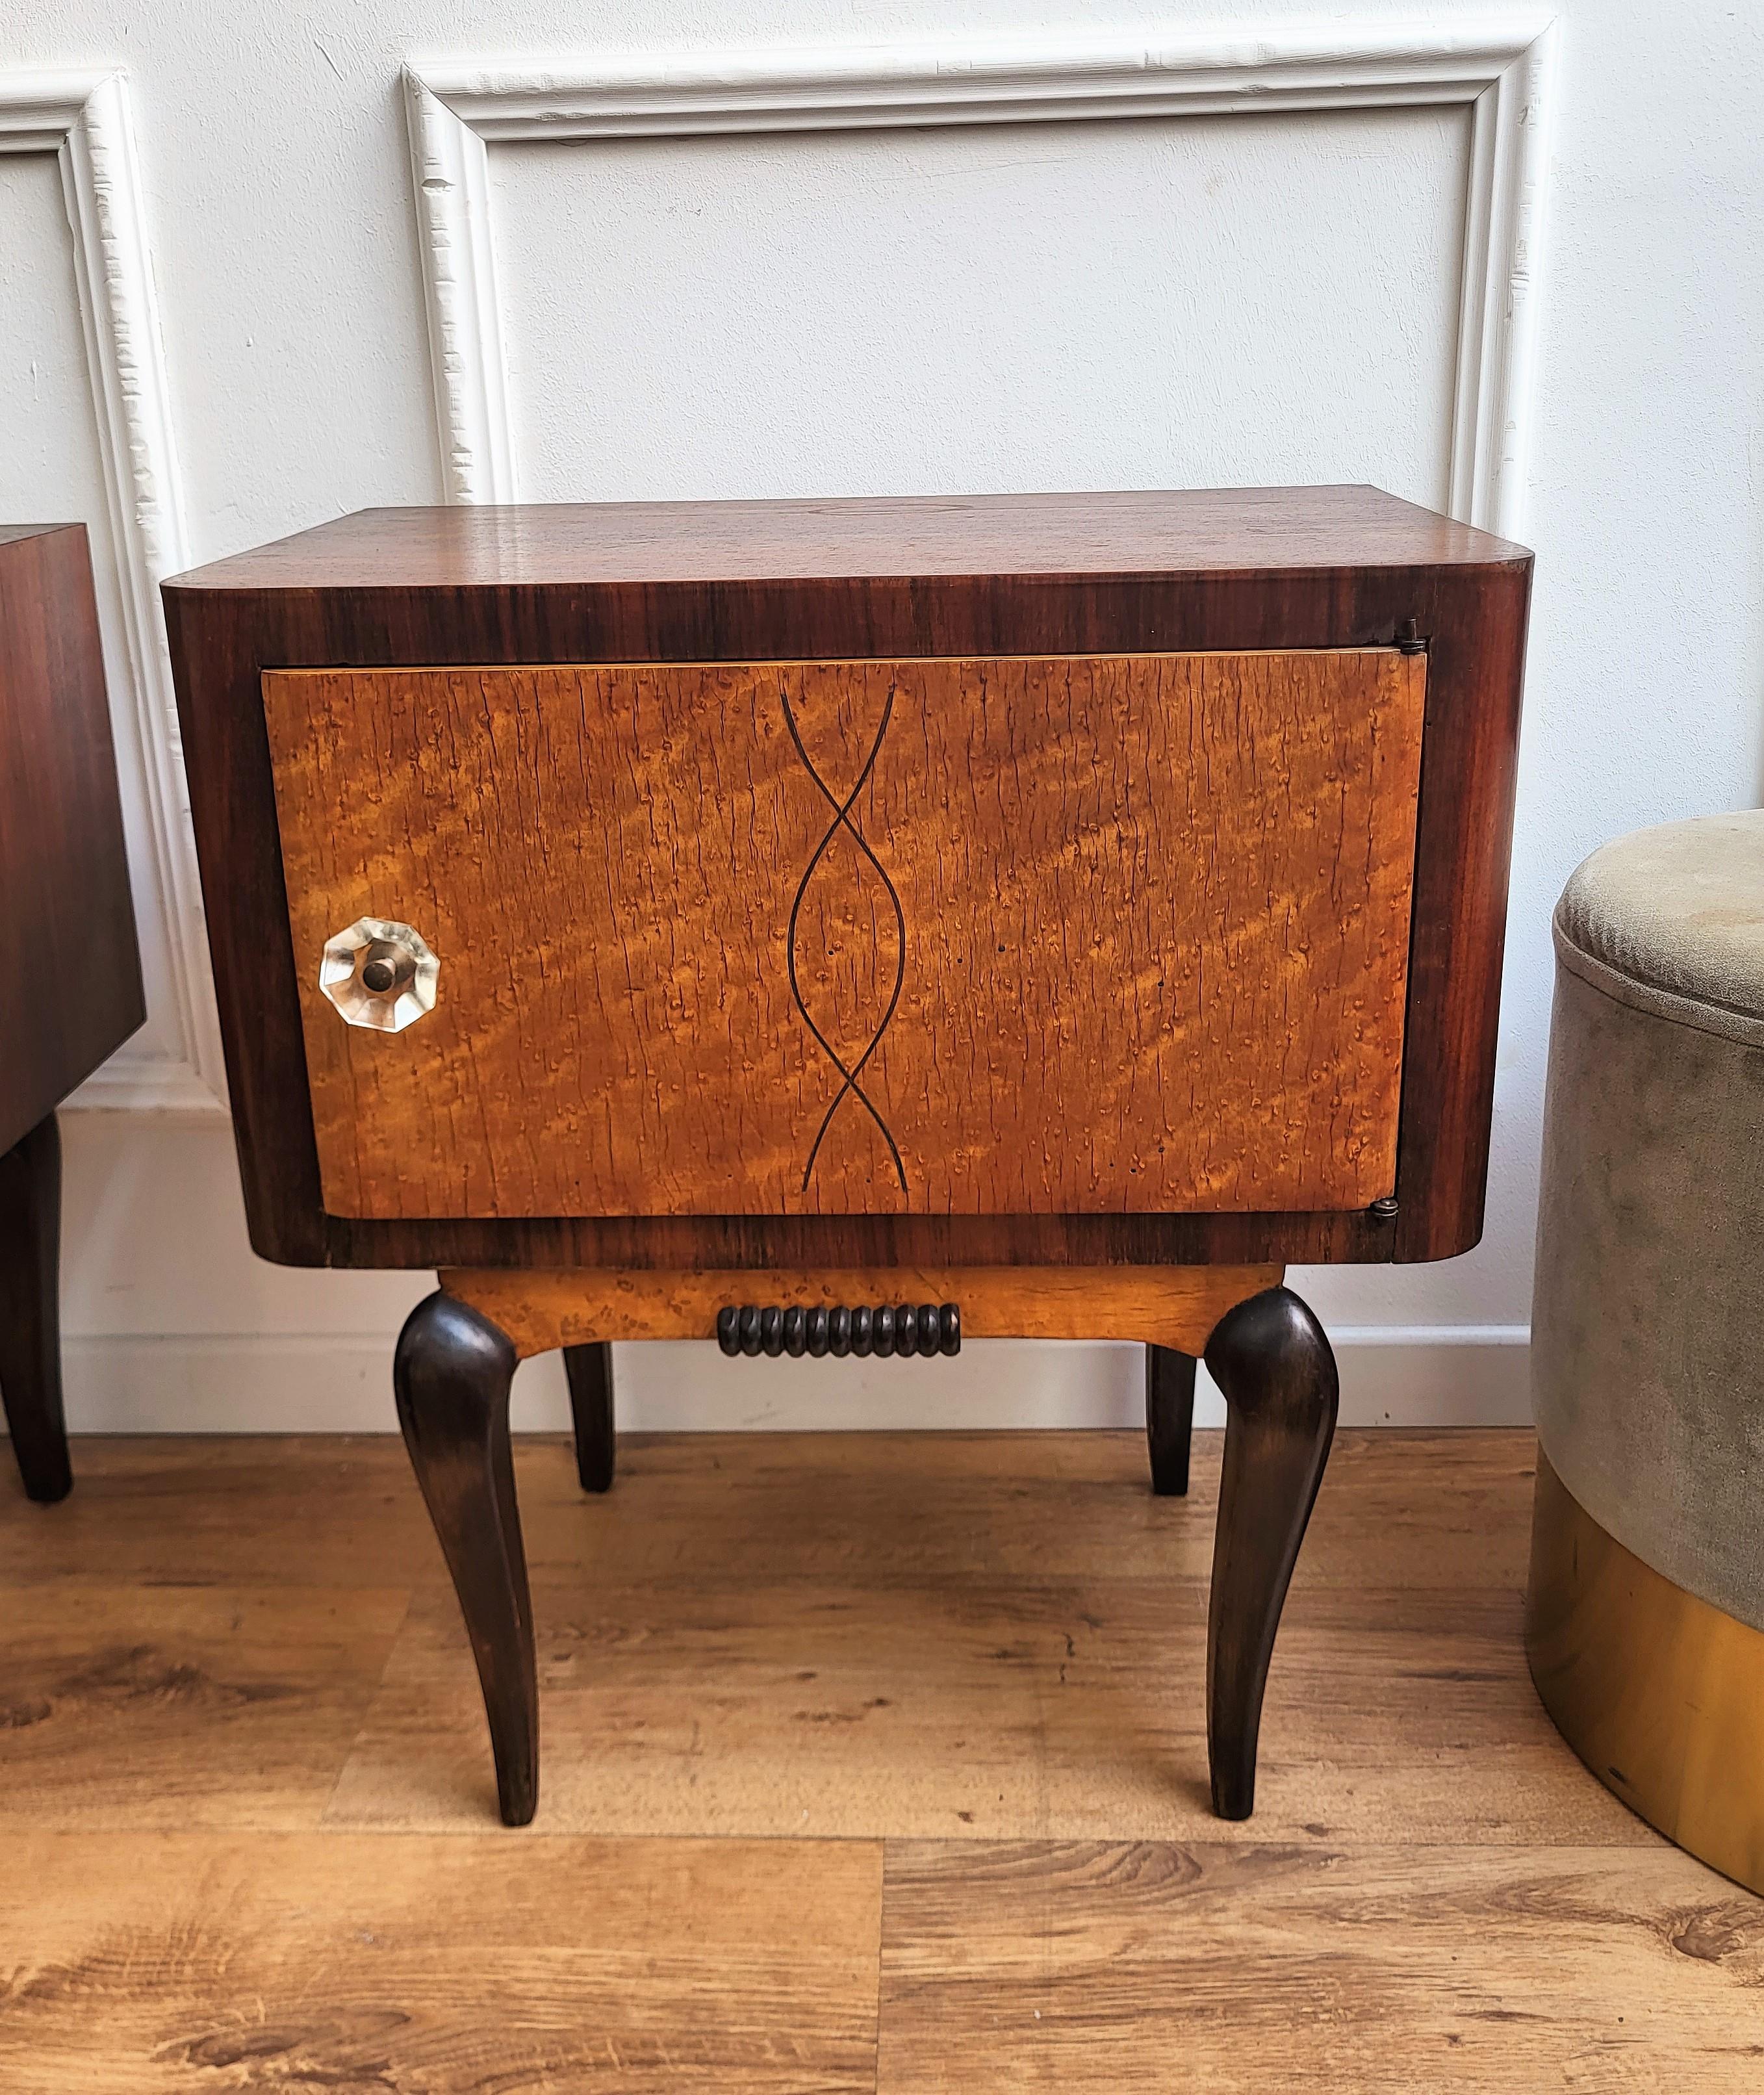
[[[61,1131],[54,1115],[0,1154],[0,1404],[25,1496],[73,1490],[61,1412]]]

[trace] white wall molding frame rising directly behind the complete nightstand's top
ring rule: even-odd
[[[1552,44],[1548,17],[1529,15],[415,63],[404,96],[446,497],[517,499],[490,145],[1456,103],[1473,151],[1450,507],[1519,536]]]

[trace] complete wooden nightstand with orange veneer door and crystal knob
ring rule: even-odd
[[[369,511],[166,589],[251,1240],[394,1366],[536,1798],[515,1360],[1138,1339],[1244,1816],[1337,1410],[1481,1228],[1529,555],[1370,488]],[[934,1372],[903,1368],[901,1372]],[[861,1441],[853,1443],[861,1460]]]

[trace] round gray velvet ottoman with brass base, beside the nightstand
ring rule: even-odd
[[[1554,934],[1531,1676],[1764,1892],[1764,813],[1607,844]]]

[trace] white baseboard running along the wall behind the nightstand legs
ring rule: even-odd
[[[1343,1425],[1529,1425],[1523,1326],[1347,1326],[1335,1335]],[[63,1347],[75,1433],[392,1431],[392,1332],[115,1335]],[[616,1349],[633,1431],[804,1427],[1138,1427],[1142,1349],[993,1339],[960,1360],[723,1360],[710,1345]],[[570,1420],[557,1358],[515,1381],[517,1431]],[[1196,1423],[1223,1408],[1203,1383]]]

